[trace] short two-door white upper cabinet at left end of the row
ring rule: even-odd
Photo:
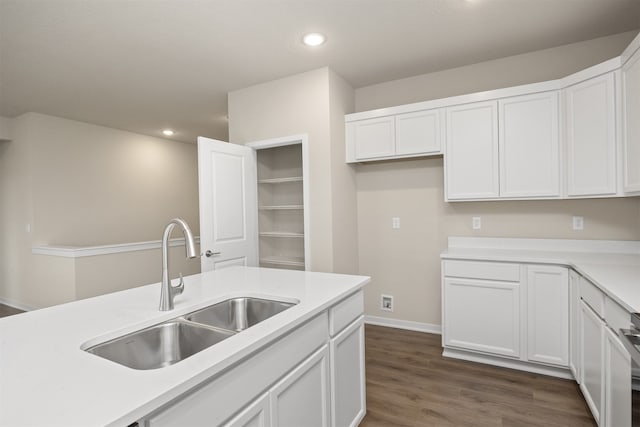
[[[441,154],[442,110],[346,123],[347,162]]]

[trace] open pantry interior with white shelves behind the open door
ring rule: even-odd
[[[302,144],[257,150],[260,266],[305,269]]]

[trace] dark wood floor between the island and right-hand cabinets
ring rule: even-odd
[[[440,335],[367,325],[373,426],[595,426],[574,381],[442,357]]]

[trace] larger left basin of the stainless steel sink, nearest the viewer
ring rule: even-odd
[[[129,368],[157,369],[184,360],[233,334],[177,319],[98,344],[86,351]]]

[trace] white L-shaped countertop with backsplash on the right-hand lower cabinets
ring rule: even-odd
[[[565,265],[640,312],[640,242],[451,237],[441,258]]]

